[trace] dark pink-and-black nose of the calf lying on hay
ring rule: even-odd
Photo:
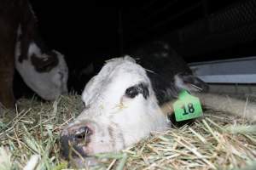
[[[70,156],[86,156],[84,147],[90,142],[92,130],[87,126],[69,127],[61,133],[61,154],[66,159]]]

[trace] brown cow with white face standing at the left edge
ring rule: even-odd
[[[43,99],[67,93],[67,64],[64,56],[50,50],[38,35],[37,20],[27,0],[0,2],[0,102],[15,104],[15,68],[28,87]]]

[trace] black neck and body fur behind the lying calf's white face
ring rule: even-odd
[[[149,70],[147,74],[159,105],[177,98],[179,89],[174,84],[176,74],[192,74],[183,58],[166,42],[150,42],[132,56],[140,58],[137,63]]]

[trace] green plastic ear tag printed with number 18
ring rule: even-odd
[[[178,100],[173,104],[173,109],[177,122],[202,116],[200,100],[190,95],[186,90],[178,95]]]

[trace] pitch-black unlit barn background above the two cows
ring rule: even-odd
[[[81,90],[105,59],[163,39],[187,62],[255,54],[255,0],[31,0],[39,31],[65,54],[69,88]],[[95,72],[79,78],[94,63]]]

